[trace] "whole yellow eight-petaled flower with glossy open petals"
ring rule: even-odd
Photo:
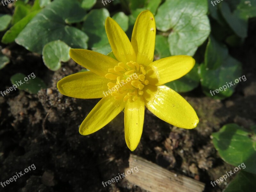
[[[156,23],[150,11],[138,16],[131,42],[110,17],[105,28],[116,59],[90,50],[71,49],[70,57],[90,71],[67,76],[57,84],[60,93],[69,97],[102,98],[84,119],[79,132],[89,135],[100,130],[124,109],[125,141],[133,151],[142,134],[144,106],[169,124],[195,128],[199,122],[195,110],[164,85],[187,74],[195,60],[179,55],[153,62]]]

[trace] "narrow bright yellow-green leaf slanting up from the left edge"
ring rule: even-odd
[[[40,10],[33,11],[29,13],[26,17],[24,17],[22,20],[18,21],[15,25],[13,25],[6,33],[4,34],[2,38],[2,43],[9,44],[12,43],[15,38],[20,34],[20,32],[26,27],[28,22],[33,19],[33,17],[36,16],[37,13],[39,13]]]

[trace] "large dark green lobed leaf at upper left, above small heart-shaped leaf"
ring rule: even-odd
[[[66,25],[80,22],[84,16],[85,10],[77,1],[55,0],[28,23],[15,42],[39,54],[44,45],[55,40],[61,40],[72,48],[87,49],[88,36],[83,31]]]

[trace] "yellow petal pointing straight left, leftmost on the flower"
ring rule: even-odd
[[[61,79],[57,87],[61,94],[79,99],[95,99],[104,97],[110,82],[105,77],[91,71],[76,73]],[[105,93],[106,95],[106,93]]]

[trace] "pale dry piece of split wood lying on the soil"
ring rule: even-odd
[[[127,175],[125,179],[150,192],[202,192],[204,183],[186,176],[172,173],[157,164],[136,155],[130,155],[129,168],[138,168],[138,172]]]

